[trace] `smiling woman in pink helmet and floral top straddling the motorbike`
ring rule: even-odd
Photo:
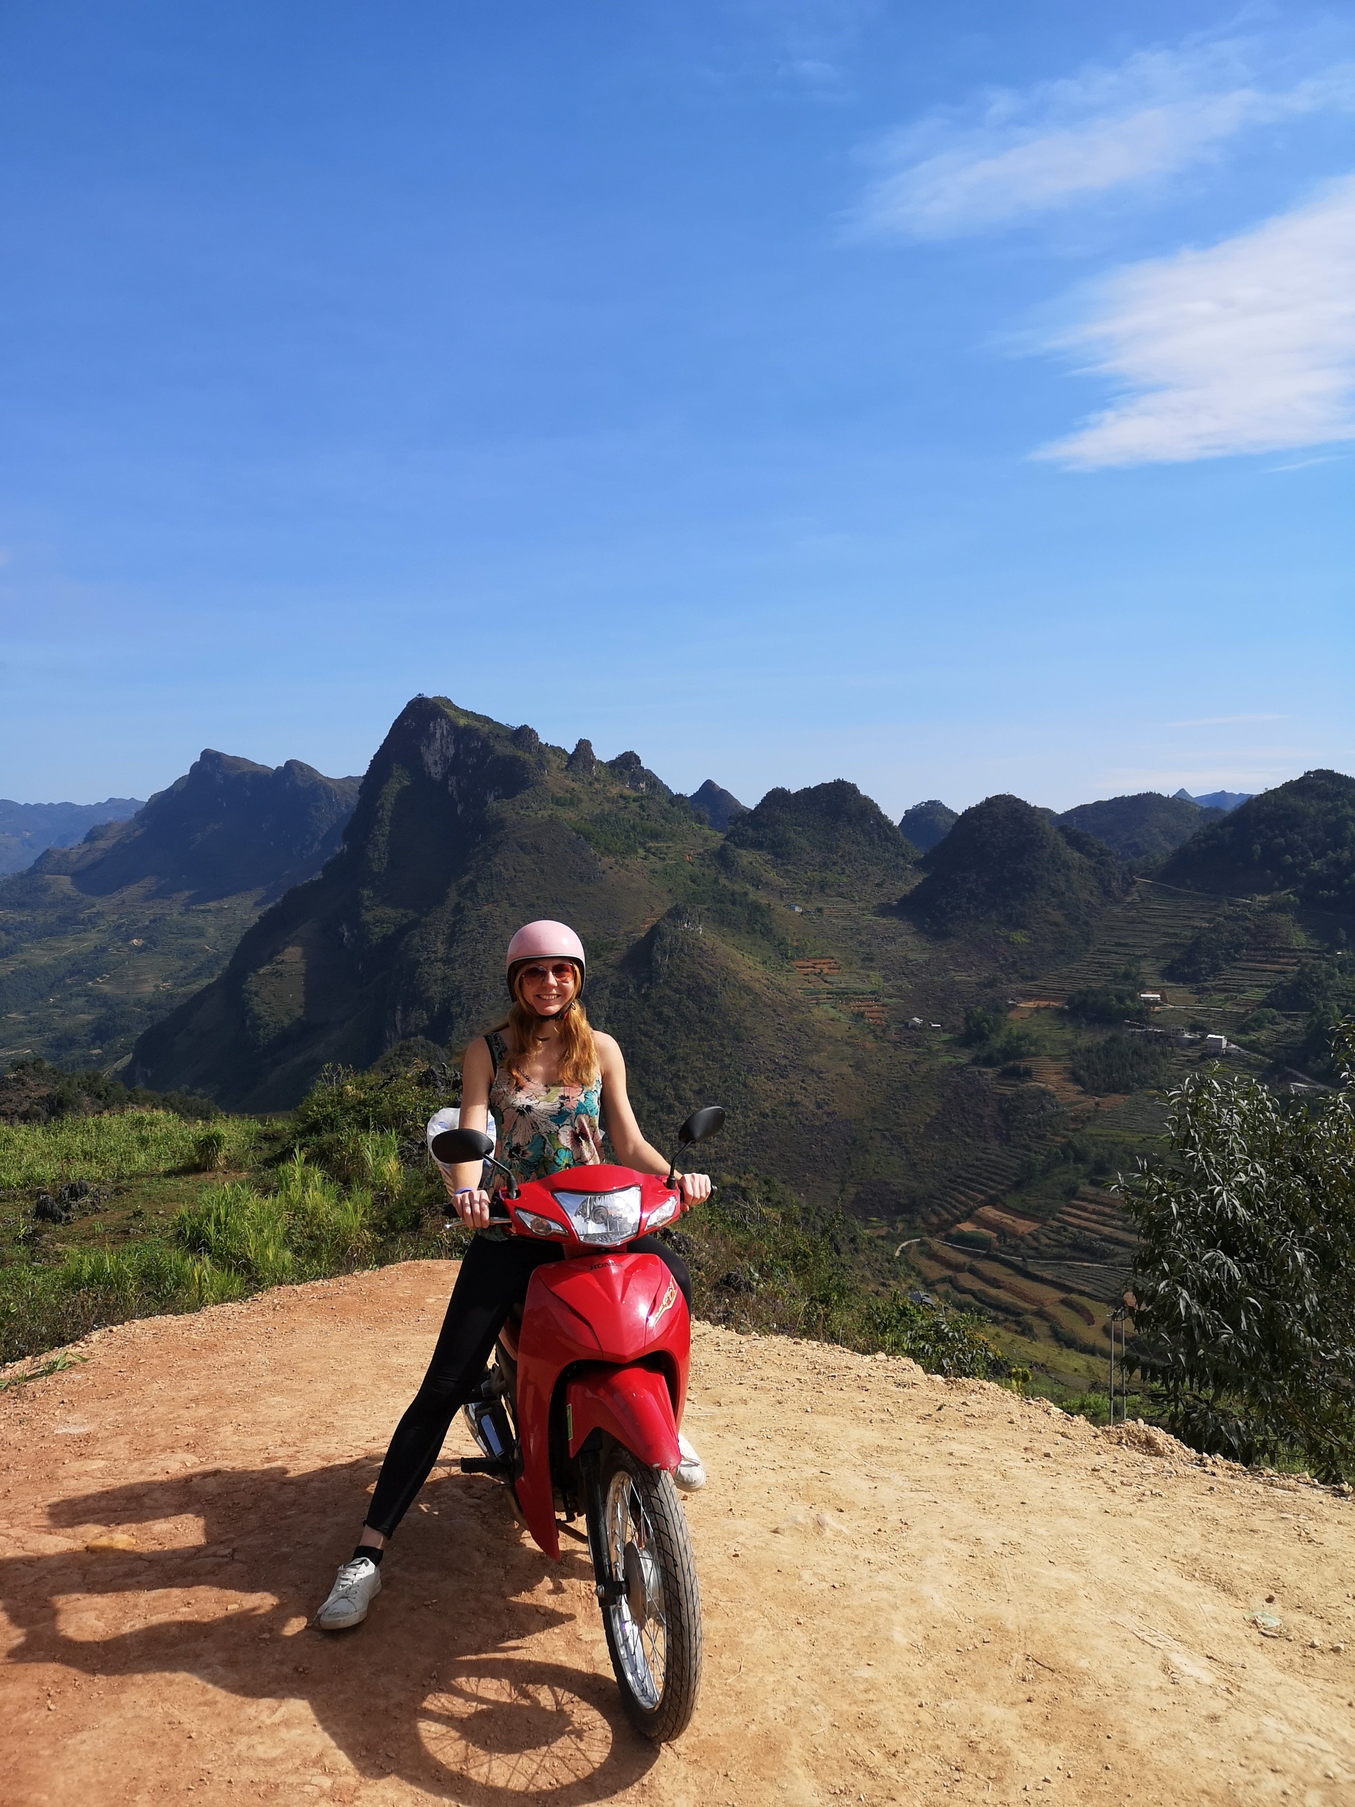
[[[584,943],[575,931],[562,922],[529,922],[508,943],[506,970],[513,999],[508,1023],[466,1048],[463,1128],[484,1129],[493,1111],[499,1158],[519,1180],[600,1162],[603,1126],[621,1166],[667,1173],[668,1162],[641,1137],[631,1109],[621,1050],[611,1035],[593,1030],[584,1014]],[[452,1418],[479,1386],[504,1319],[526,1297],[533,1269],[564,1254],[558,1243],[524,1241],[490,1225],[490,1193],[477,1164],[452,1167],[444,1184],[475,1236],[461,1263],[428,1373],[390,1438],[358,1549],[340,1568],[316,1615],[316,1624],[327,1632],[347,1630],[367,1617],[367,1606],[381,1592],[381,1554],[428,1478]],[[499,1178],[493,1184],[497,1187]],[[692,1205],[710,1196],[705,1173],[681,1175],[681,1187]],[[690,1310],[692,1281],[672,1249],[658,1236],[640,1236],[627,1247],[659,1256]],[[687,1438],[679,1437],[678,1444],[683,1460],[674,1480],[692,1493],[706,1476]]]

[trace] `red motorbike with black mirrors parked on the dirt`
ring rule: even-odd
[[[710,1104],[678,1140],[688,1147],[723,1126],[724,1111]],[[564,1259],[533,1272],[520,1314],[499,1334],[466,1406],[484,1453],[461,1469],[500,1480],[555,1561],[556,1512],[567,1525],[582,1512],[625,1709],[647,1738],[676,1738],[701,1686],[701,1590],[672,1482],[692,1326],[663,1261],[623,1245],[685,1209],[678,1162],[667,1180],[591,1166],[519,1187],[477,1129],[444,1129],[430,1147],[437,1160],[482,1160],[506,1175],[495,1194],[504,1212],[491,1222],[564,1245]]]

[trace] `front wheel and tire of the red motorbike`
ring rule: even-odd
[[[701,1588],[687,1514],[672,1475],[620,1444],[603,1455],[598,1478],[594,1570],[629,1585],[627,1597],[602,1606],[607,1652],[631,1724],[663,1744],[687,1729],[701,1688]],[[627,1529],[638,1536],[623,1540]],[[645,1623],[632,1610],[640,1601]]]

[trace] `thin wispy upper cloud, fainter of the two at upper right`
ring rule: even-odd
[[[932,114],[876,148],[885,173],[856,210],[856,229],[941,239],[1008,226],[1171,175],[1247,126],[1355,108],[1355,65],[1259,80],[1274,61],[1257,42],[1194,42],[990,92],[968,119]]]

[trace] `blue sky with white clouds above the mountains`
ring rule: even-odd
[[[1355,11],[0,9],[0,795],[1355,770]]]

